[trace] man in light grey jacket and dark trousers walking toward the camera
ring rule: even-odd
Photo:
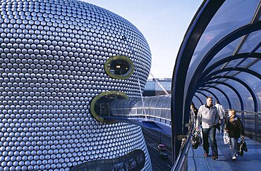
[[[199,129],[200,122],[202,121],[202,134],[203,134],[203,148],[204,156],[207,157],[209,153],[209,137],[212,148],[212,159],[218,158],[217,140],[216,140],[216,125],[219,122],[219,114],[217,108],[212,104],[212,97],[207,97],[207,103],[200,106],[198,109],[198,116],[196,122],[196,129]]]

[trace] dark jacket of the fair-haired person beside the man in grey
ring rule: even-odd
[[[233,122],[229,122],[229,116],[226,118],[225,129],[229,130],[229,137],[239,138],[245,135],[243,124],[237,115],[233,118]]]

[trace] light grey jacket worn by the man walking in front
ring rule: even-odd
[[[207,105],[202,105],[198,109],[198,117],[196,122],[196,127],[200,126],[200,122],[202,121],[202,128],[210,128],[213,127],[214,124],[219,122],[219,114],[217,113],[217,108],[212,106],[211,108],[207,108]]]

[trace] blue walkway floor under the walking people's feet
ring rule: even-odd
[[[244,151],[243,156],[233,161],[231,159],[231,149],[228,144],[224,144],[223,135],[217,134],[217,146],[219,158],[212,160],[212,151],[207,158],[204,157],[203,147],[198,149],[190,147],[188,153],[188,170],[261,170],[261,143],[253,139],[245,138],[248,152]]]

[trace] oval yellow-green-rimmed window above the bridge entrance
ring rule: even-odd
[[[133,74],[133,61],[126,56],[111,56],[104,64],[107,75],[116,79],[127,79]]]

